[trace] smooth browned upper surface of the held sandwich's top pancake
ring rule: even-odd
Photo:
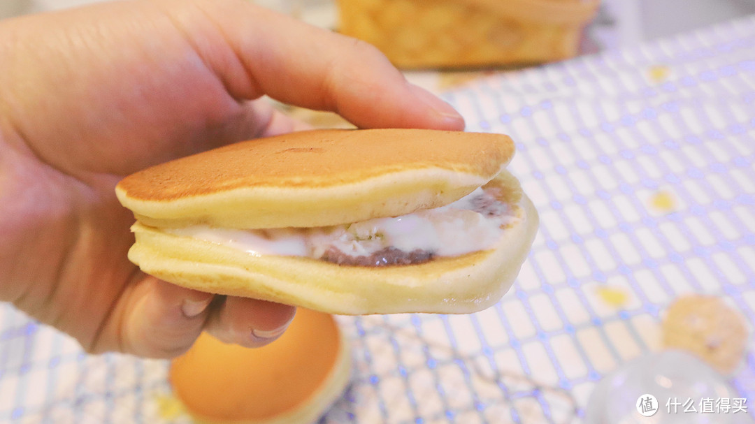
[[[501,134],[433,130],[315,130],[250,140],[180,158],[119,183],[129,198],[171,201],[242,187],[319,188],[393,171],[441,168],[492,178],[513,156]]]

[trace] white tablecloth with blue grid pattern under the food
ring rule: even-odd
[[[322,422],[578,422],[602,376],[660,349],[680,295],[755,321],[755,18],[444,97],[469,131],[516,140],[538,238],[483,312],[339,318],[355,370]],[[732,384],[752,400],[747,347]],[[190,422],[166,416],[166,376],[165,361],[85,355],[0,306],[0,422]]]

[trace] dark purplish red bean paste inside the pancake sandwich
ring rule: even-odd
[[[485,217],[499,217],[507,212],[507,205],[488,192],[471,198],[470,204],[472,210]],[[405,252],[396,247],[385,247],[371,255],[350,255],[336,247],[330,247],[319,259],[344,266],[400,266],[430,262],[435,256],[430,250]]]

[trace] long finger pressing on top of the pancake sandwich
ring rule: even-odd
[[[283,103],[337,112],[362,128],[464,128],[464,119],[448,103],[408,83],[365,42],[243,0],[176,1],[167,0],[167,10],[188,36],[207,35],[213,23],[222,32],[230,46],[225,54],[215,43],[195,39],[193,45],[234,97],[267,94]],[[203,13],[186,13],[181,4]]]

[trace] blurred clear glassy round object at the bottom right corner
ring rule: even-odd
[[[687,352],[664,351],[630,361],[600,380],[584,424],[751,422],[746,412],[733,413],[738,402],[746,402],[740,398],[705,362]]]

